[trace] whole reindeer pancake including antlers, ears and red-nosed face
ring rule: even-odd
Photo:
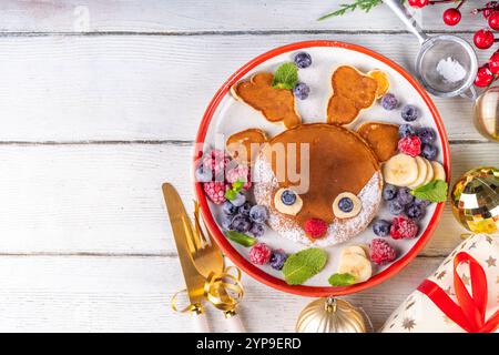
[[[255,74],[232,90],[236,99],[263,112],[268,121],[283,121],[288,128],[271,139],[258,134],[255,142],[262,145],[253,162],[254,195],[268,209],[269,226],[283,237],[317,246],[345,242],[367,227],[381,201],[378,156],[391,154],[391,146],[380,150],[376,145],[375,152],[369,143],[378,141],[371,132],[379,135],[393,125],[377,122],[377,130],[365,129],[361,136],[340,125],[352,123],[374,103],[377,81],[352,67],[337,68],[332,81],[328,123],[301,123],[294,100],[276,100],[276,94],[281,99],[287,95],[282,89],[275,92],[269,73]],[[293,125],[286,124],[289,112],[298,119]],[[247,144],[253,136],[254,130],[247,130],[227,142]],[[227,151],[233,150],[227,146]],[[320,233],[315,225],[320,226]]]

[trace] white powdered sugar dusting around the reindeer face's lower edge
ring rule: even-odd
[[[294,219],[279,213],[272,206],[272,197],[275,190],[278,189],[278,183],[269,163],[262,156],[258,156],[255,162],[254,180],[256,182],[254,187],[256,202],[265,205],[271,212],[268,225],[281,236],[306,245],[324,247],[348,241],[367,227],[381,201],[383,178],[381,173],[377,171],[358,194],[363,204],[360,213],[352,219],[335,219],[329,224],[326,236],[312,241]]]

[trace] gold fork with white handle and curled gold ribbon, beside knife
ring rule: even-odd
[[[213,240],[213,236],[206,229],[206,232],[210,235],[210,243],[208,243],[208,240],[204,234],[203,229],[201,227],[200,206],[196,201],[194,201],[194,221],[195,221],[195,232],[191,230],[190,232],[187,231],[189,233],[186,234],[190,236],[187,237],[187,240],[190,240],[187,241],[187,245],[194,266],[196,267],[197,272],[207,280],[210,280],[214,275],[226,274],[224,257],[218,248],[218,245],[216,245],[216,243]],[[246,329],[244,328],[238,314],[235,312],[236,303],[231,302],[233,301],[233,298],[231,298],[231,296],[227,294],[225,290],[226,286],[230,287],[231,284],[225,284],[223,282],[217,283],[217,286],[215,287],[215,296],[220,298],[221,302],[220,303],[212,302],[212,303],[216,307],[224,311],[224,317],[227,320],[228,327],[231,328],[232,332],[244,333],[246,332]],[[227,304],[231,304],[231,306],[227,307],[226,306]]]

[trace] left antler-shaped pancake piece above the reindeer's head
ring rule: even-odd
[[[296,111],[295,97],[287,89],[272,88],[272,73],[256,73],[249,80],[237,82],[231,88],[234,98],[262,112],[269,122],[283,122],[288,129],[302,122]]]

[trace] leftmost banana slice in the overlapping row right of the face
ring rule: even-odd
[[[383,165],[383,176],[387,183],[396,186],[414,184],[418,179],[416,159],[403,153],[391,156]]]

